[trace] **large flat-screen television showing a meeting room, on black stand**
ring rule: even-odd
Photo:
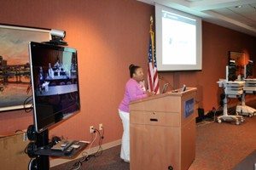
[[[29,43],[34,125],[38,133],[80,110],[77,50]]]

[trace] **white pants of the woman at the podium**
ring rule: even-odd
[[[124,161],[130,161],[130,114],[119,110],[119,116],[124,128],[120,157]]]

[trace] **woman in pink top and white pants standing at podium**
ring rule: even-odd
[[[122,136],[122,145],[120,157],[124,161],[130,161],[130,115],[129,104],[133,100],[143,99],[154,95],[154,92],[146,92],[143,86],[143,69],[137,65],[130,65],[130,79],[125,85],[124,99],[119,105],[119,116],[123,122],[124,133]]]

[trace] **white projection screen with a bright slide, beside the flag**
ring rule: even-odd
[[[155,5],[158,71],[201,71],[201,19]]]

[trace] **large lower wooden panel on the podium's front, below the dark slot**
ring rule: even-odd
[[[130,130],[132,170],[180,169],[178,127],[131,124]]]

